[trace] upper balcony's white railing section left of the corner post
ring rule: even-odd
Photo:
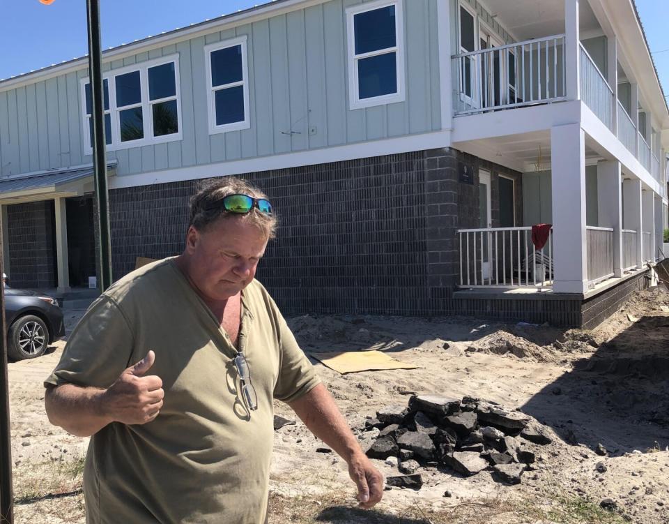
[[[566,99],[564,35],[457,54],[456,114]]]

